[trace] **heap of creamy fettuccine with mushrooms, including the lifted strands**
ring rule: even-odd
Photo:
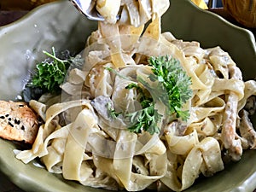
[[[161,15],[169,1],[117,1],[122,6],[120,21],[108,12],[116,1],[97,2],[110,23],[99,22],[84,49],[84,68],[71,68],[61,85],[69,97],[50,105],[30,102],[44,124],[32,149],[16,155],[19,160],[28,163],[38,157],[49,172],[95,188],[137,191],[165,186],[183,191],[201,174],[210,177],[223,170],[223,156],[240,160],[243,150],[255,148],[256,133],[247,131],[247,113],[240,112],[256,95],[256,84],[243,81],[228,53],[161,32]],[[166,106],[155,101],[160,133],[128,131],[129,122],[122,115],[110,118],[106,106],[110,103],[117,113],[140,110],[137,91],[125,87],[137,84],[137,77],[154,87],[148,79],[148,57],[158,55],[180,61],[191,78],[193,96],[183,106],[189,120],[166,122]]]

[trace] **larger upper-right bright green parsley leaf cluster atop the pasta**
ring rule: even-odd
[[[170,114],[176,113],[177,118],[189,119],[189,111],[183,111],[183,104],[192,96],[191,78],[185,73],[180,62],[166,56],[150,57],[148,60],[154,74],[149,75],[151,81],[158,81],[161,90],[166,90]],[[162,92],[163,93],[163,92]],[[165,98],[165,96],[160,96]]]

